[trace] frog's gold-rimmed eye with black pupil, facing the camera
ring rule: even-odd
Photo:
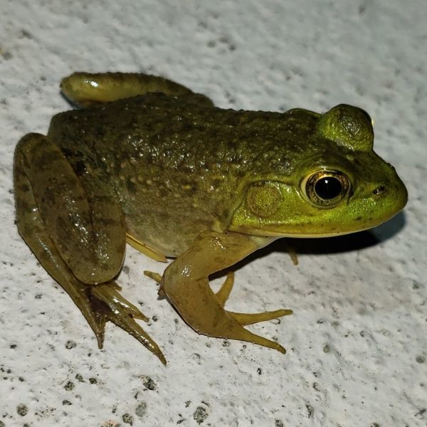
[[[302,181],[302,191],[313,204],[325,208],[335,206],[347,196],[350,180],[337,171],[319,171]]]

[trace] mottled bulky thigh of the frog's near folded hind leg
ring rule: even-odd
[[[125,254],[125,223],[120,206],[103,193],[106,186],[91,176],[83,187],[83,178],[43,135],[21,139],[16,164],[25,170],[50,239],[76,278],[87,284],[114,278]]]

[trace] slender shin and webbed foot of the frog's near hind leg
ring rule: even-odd
[[[166,363],[157,344],[142,330],[134,318],[147,320],[137,307],[127,302],[117,292],[118,286],[113,281],[100,285],[87,285],[76,278],[69,265],[60,255],[56,243],[43,220],[36,198],[28,179],[28,155],[33,146],[43,142],[43,135],[30,134],[23,137],[16,147],[14,159],[14,188],[16,201],[16,223],[19,233],[41,265],[70,295],[83,316],[88,321],[97,338],[98,347],[102,348],[105,323],[115,323]],[[51,159],[53,161],[53,159]]]

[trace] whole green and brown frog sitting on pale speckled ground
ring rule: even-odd
[[[278,238],[367,230],[407,201],[374,152],[372,120],[340,104],[319,113],[231,110],[172,80],[84,73],[60,83],[75,107],[14,155],[19,234],[70,295],[102,348],[112,322],[166,364],[120,294],[126,245],[159,262],[145,272],[193,330],[285,353],[246,328],[290,315],[226,310],[233,265]],[[214,292],[211,275],[226,274]]]

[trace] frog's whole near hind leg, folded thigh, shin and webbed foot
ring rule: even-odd
[[[102,348],[110,320],[166,363],[134,318],[147,321],[112,280],[122,266],[125,225],[120,206],[95,176],[83,185],[60,149],[29,134],[16,146],[14,188],[19,233],[85,316]]]

